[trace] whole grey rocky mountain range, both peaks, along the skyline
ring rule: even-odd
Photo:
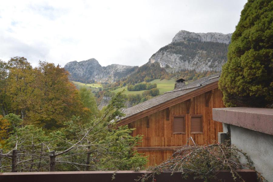
[[[153,79],[174,76],[173,73],[189,70],[198,72],[220,72],[227,61],[227,47],[231,33],[194,33],[179,31],[172,42],[154,53],[143,66],[112,64],[101,66],[92,58],[86,61],[72,61],[65,65],[70,79],[83,83],[115,82],[140,83]]]

